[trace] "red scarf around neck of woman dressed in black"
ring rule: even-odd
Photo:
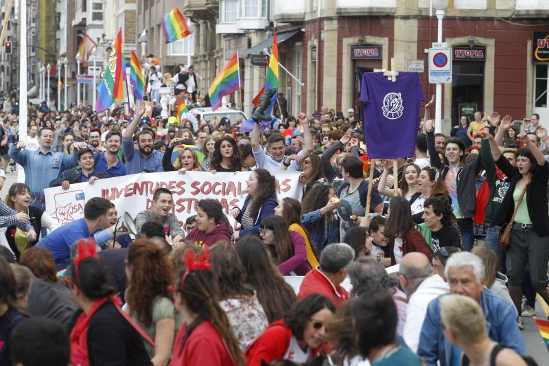
[[[153,347],[156,347],[154,341],[135,321],[120,307],[121,301],[118,297],[110,296],[98,299],[93,303],[88,314],[82,312],[71,331],[70,345],[71,345],[71,364],[73,366],[90,366],[89,354],[88,354],[88,328],[90,325],[93,314],[99,309],[106,301],[110,300],[115,308],[126,318],[126,320],[132,325],[143,338],[148,341]]]

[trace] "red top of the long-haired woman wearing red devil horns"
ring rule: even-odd
[[[202,321],[188,336],[182,345],[187,323],[184,323],[177,334],[170,366],[216,365],[236,366],[229,354],[219,332],[209,321]]]

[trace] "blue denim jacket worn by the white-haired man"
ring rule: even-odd
[[[427,366],[436,366],[436,361],[440,361],[441,366],[453,365],[452,360],[446,357],[452,355],[452,343],[445,339],[441,328],[439,301],[442,296],[447,295],[441,295],[430,302],[419,336],[417,354]],[[524,339],[517,326],[515,308],[509,301],[484,287],[480,295],[480,308],[484,312],[489,338],[524,355]]]

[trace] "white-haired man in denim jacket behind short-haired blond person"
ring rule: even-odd
[[[517,326],[515,307],[484,287],[484,271],[484,264],[477,255],[469,252],[452,254],[444,268],[450,293],[478,301],[490,339],[524,354],[524,339]],[[458,365],[460,360],[461,350],[445,339],[441,327],[440,300],[443,296],[430,302],[419,336],[417,354],[428,366],[437,365],[437,361],[441,366]]]

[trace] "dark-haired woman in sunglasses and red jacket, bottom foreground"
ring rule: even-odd
[[[336,307],[323,295],[312,294],[296,302],[285,317],[271,323],[248,350],[248,366],[284,359],[307,363],[324,353],[326,325]]]

